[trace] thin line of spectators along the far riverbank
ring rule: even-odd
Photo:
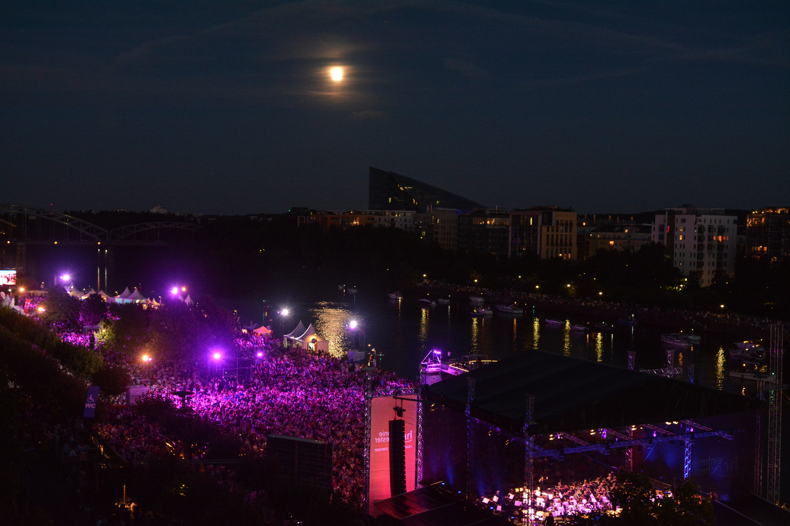
[[[440,281],[425,281],[420,287],[425,289],[446,290],[450,285]],[[489,297],[495,300],[520,300],[524,302],[540,302],[543,304],[571,305],[580,308],[589,308],[600,311],[617,311],[620,315],[634,314],[637,318],[661,318],[664,320],[678,320],[695,323],[700,326],[722,324],[745,329],[765,330],[777,320],[762,316],[742,315],[732,311],[707,311],[683,308],[659,308],[646,305],[629,303],[626,301],[609,301],[588,297],[565,297],[543,293],[525,293],[514,289],[487,289],[476,285],[452,285],[457,292],[469,295]],[[790,323],[784,323],[785,329],[790,330]]]

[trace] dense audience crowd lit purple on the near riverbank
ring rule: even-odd
[[[238,436],[242,453],[265,456],[270,434],[310,438],[333,444],[333,487],[345,502],[361,502],[364,483],[365,390],[413,389],[388,371],[364,371],[330,356],[303,349],[282,349],[267,338],[240,339],[254,358],[249,377],[237,380],[205,378],[188,371],[158,366],[137,382],[149,387],[149,397],[181,404],[175,391],[194,393],[187,405],[194,414],[216,423],[229,436]],[[258,354],[262,356],[258,356]],[[99,435],[127,461],[149,461],[170,455],[198,459],[205,450],[182,448],[156,425],[129,408],[96,425]]]

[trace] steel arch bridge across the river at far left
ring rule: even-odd
[[[9,243],[164,244],[160,234],[170,230],[198,233],[201,226],[190,222],[155,221],[107,230],[72,215],[36,207],[0,204],[0,231],[6,234],[3,238]],[[156,233],[156,240],[137,240],[137,234],[152,232]]]

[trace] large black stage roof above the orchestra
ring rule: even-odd
[[[756,408],[756,401],[646,372],[528,351],[427,387],[425,398],[521,434],[526,394],[535,397],[532,435],[693,420]]]

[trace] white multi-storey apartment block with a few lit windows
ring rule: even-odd
[[[724,209],[678,207],[656,215],[652,240],[664,244],[683,276],[710,285],[720,271],[732,274],[738,243],[738,218]]]

